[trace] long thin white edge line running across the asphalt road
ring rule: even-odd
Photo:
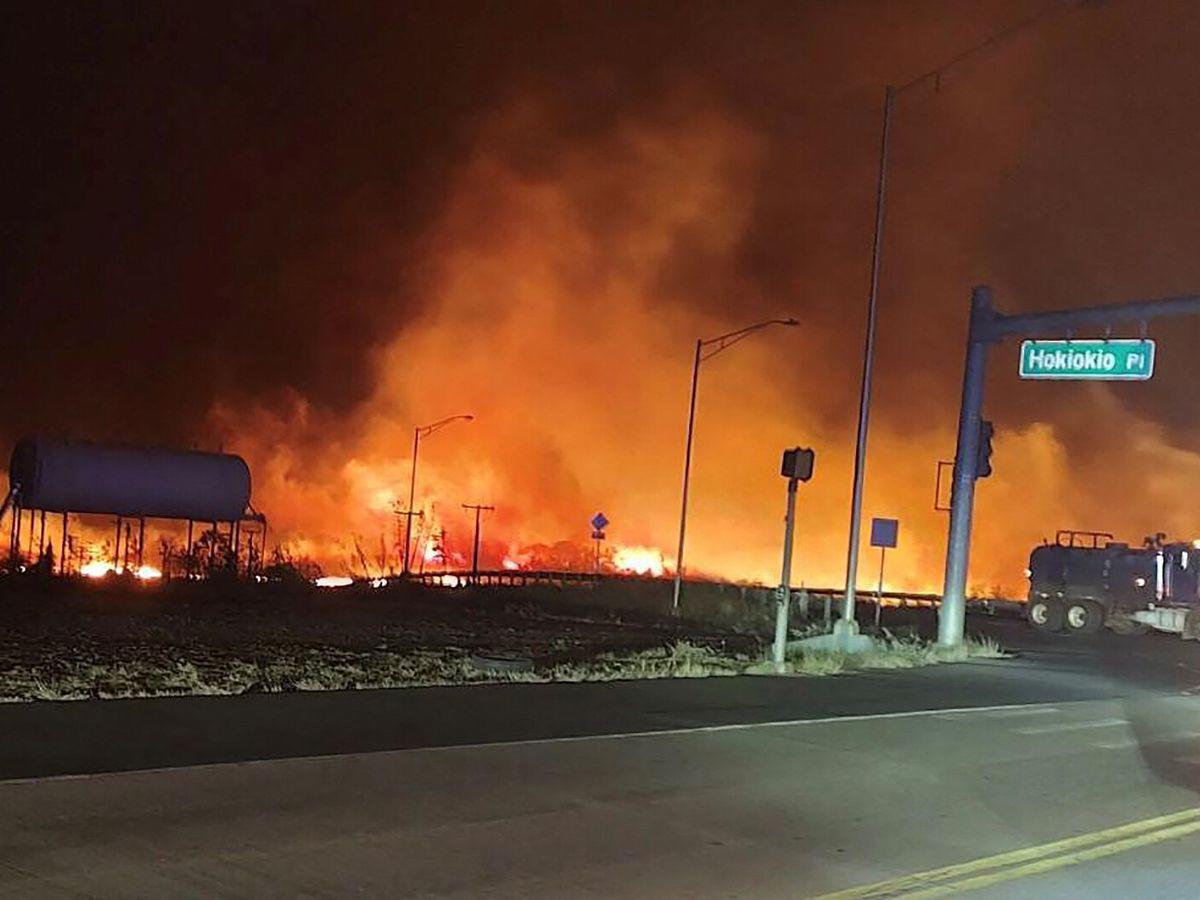
[[[1072,701],[1074,703],[1091,703],[1096,701]],[[1040,709],[1045,703],[1000,703],[988,707],[953,707],[949,709],[911,709],[901,713],[869,713],[864,715],[830,715],[822,719],[782,719],[767,722],[739,722],[734,725],[696,725],[685,728],[659,728],[654,731],[623,731],[601,734],[571,734],[558,738],[520,738],[516,740],[487,740],[478,744],[439,744],[433,746],[407,746],[390,750],[364,750],[344,754],[316,754],[310,756],[280,756],[265,760],[240,760],[235,762],[206,762],[197,766],[160,766],[156,768],[128,769],[126,772],[95,772],[77,775],[43,775],[38,778],[11,778],[0,779],[0,786],[41,784],[44,781],[77,781],[94,778],[113,778],[120,775],[156,775],[181,769],[215,769],[233,766],[263,766],[278,762],[301,761],[328,761],[340,760],[347,756],[382,756],[385,754],[437,754],[452,750],[498,750],[506,746],[539,746],[542,744],[580,744],[589,740],[626,740],[629,738],[662,738],[679,737],[684,734],[713,734],[727,731],[751,731],[754,728],[791,728],[805,725],[838,725],[840,722],[870,722],[887,719],[930,719],[948,713],[998,713],[1025,709]],[[683,712],[683,710],[680,710]]]

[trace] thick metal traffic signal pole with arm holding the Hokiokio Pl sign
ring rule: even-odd
[[[959,437],[954,452],[950,527],[946,542],[946,582],[937,620],[938,643],[946,646],[962,643],[967,562],[971,552],[971,514],[974,506],[974,482],[979,461],[979,419],[983,410],[988,350],[991,344],[1006,337],[1032,337],[1054,331],[1072,332],[1088,325],[1109,329],[1124,322],[1145,325],[1153,318],[1195,313],[1200,313],[1200,295],[1004,316],[992,308],[990,288],[980,286],[971,292],[971,322],[967,329],[966,364],[962,370]]]

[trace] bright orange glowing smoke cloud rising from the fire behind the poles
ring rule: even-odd
[[[529,174],[509,150],[552,132],[542,115],[535,104],[498,115],[455,174],[422,241],[425,311],[373,360],[374,389],[353,413],[331,418],[299,396],[212,410],[227,446],[250,460],[275,533],[328,570],[356,570],[359,550],[398,568],[394,510],[407,503],[413,427],[460,413],[475,419],[422,443],[416,492],[419,528],[436,524],[450,560],[470,559],[473,518],[461,504],[486,503],[496,510],[482,520],[485,568],[589,565],[596,510],[614,546],[641,548],[641,569],[629,568],[672,568],[692,343],[746,323],[664,296],[664,269],[683,254],[733,272],[728,307],[751,320],[802,311],[800,286],[794,306],[769,306],[736,275],[754,216],[752,132],[704,108],[661,125],[630,119],[556,146],[553,164]],[[854,410],[829,404],[857,382],[858,340],[802,319],[704,365],[689,571],[778,580],[779,454],[804,444],[817,464],[799,498],[793,577],[841,583]],[[1099,521],[1075,515],[1103,503],[1080,504],[1063,487],[1068,462],[1050,426],[996,443],[1004,462],[980,485],[972,586],[1012,595],[1031,542]],[[888,588],[941,587],[946,514],[932,508],[934,467],[953,450],[949,404],[875,416],[864,515],[901,520]],[[872,587],[877,557],[865,547],[862,557],[859,583]]]

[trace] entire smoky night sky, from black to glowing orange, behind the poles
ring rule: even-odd
[[[844,577],[882,85],[1046,2],[26,10],[6,29],[0,433],[222,446],[330,570],[407,503],[469,554],[584,554],[588,520],[778,577],[786,446],[817,450],[796,580]],[[1193,293],[1186,2],[1061,12],[898,100],[864,512],[893,587],[937,589],[966,305]],[[1136,331],[1136,330],[1134,330]],[[994,354],[971,583],[1021,589],[1057,528],[1195,536],[1200,328],[1136,385],[1022,384]],[[863,553],[874,583],[877,558]]]

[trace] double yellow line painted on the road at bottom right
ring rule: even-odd
[[[1177,836],[1174,833],[1175,828],[1182,828],[1184,826],[1189,827],[1188,830],[1183,832],[1184,834],[1193,830],[1200,830],[1200,808],[1186,809],[1165,816],[1156,816],[1154,818],[1144,818],[1138,822],[1128,822],[1123,826],[1116,826],[1115,828],[1105,828],[1098,832],[1075,835],[1074,838],[1064,838],[1063,840],[1042,844],[1036,847],[1013,850],[1007,853],[980,857],[979,859],[972,859],[966,863],[946,865],[938,869],[929,869],[926,871],[913,872],[911,875],[901,875],[899,877],[888,878],[887,881],[880,881],[874,884],[864,884],[857,888],[826,894],[820,898],[820,900],[868,900],[869,898],[917,895],[914,892],[926,892],[940,887],[937,882],[942,882],[944,884],[946,882],[958,881],[959,878],[964,878],[966,876],[990,878],[994,877],[994,875],[1007,875],[1008,871],[1018,871],[1018,869],[1007,869],[1007,866],[1028,869],[1031,868],[1030,865],[1022,864],[1032,864],[1034,860],[1039,860],[1036,863],[1037,865],[1049,862],[1056,863],[1056,865],[1049,868],[1070,865],[1072,862],[1060,863],[1058,860],[1080,857],[1075,862],[1086,862],[1088,858],[1096,858],[1086,856],[1087,853],[1094,853],[1096,851],[1105,851],[1103,853],[1098,853],[1097,856],[1109,856],[1109,853],[1120,853],[1122,850],[1130,850],[1135,846],[1153,844],[1157,840],[1169,840],[1170,838]],[[1141,842],[1129,844],[1130,840],[1140,840]],[[1128,846],[1126,846],[1127,844]],[[1112,846],[1117,846],[1117,850],[1110,851],[1109,848]],[[991,872],[991,870],[1002,868],[1006,868],[1004,872],[984,875],[985,872]],[[1033,875],[1036,872],[1031,871],[1027,874]],[[1021,876],[1016,875],[1013,877]],[[996,880],[1002,881],[1003,878]],[[920,895],[934,896],[934,894]]]

